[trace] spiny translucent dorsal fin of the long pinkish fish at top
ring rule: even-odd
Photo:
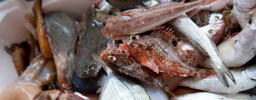
[[[184,3],[185,0],[165,0],[165,1],[162,1],[158,4],[156,4],[155,6],[149,8],[148,10],[150,9],[156,9],[156,8],[161,8],[161,7],[164,7],[164,6],[168,6],[168,5],[172,5],[172,4],[176,4],[176,3]]]

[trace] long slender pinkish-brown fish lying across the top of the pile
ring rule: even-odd
[[[180,3],[177,3],[171,0],[165,0],[148,10],[145,10],[145,8],[141,11],[109,17],[102,22],[103,27],[101,33],[104,37],[112,39],[114,44],[114,40],[153,30],[157,26],[185,12],[198,6],[210,4],[216,0],[198,0],[190,3],[184,3],[184,1],[182,0]]]

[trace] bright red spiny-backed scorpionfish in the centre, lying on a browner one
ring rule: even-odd
[[[161,34],[159,34],[161,35]],[[172,35],[170,32],[164,34]],[[196,76],[196,77],[215,77],[212,70],[189,67],[182,61],[180,55],[173,46],[158,37],[154,32],[150,35],[131,35],[122,39],[123,44],[119,44],[123,49],[130,52],[135,60],[141,65],[146,66],[156,73],[166,72],[176,76]]]

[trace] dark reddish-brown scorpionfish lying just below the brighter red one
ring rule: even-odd
[[[137,78],[156,87],[162,87],[168,93],[172,94],[171,89],[166,87],[162,78],[157,73],[154,73],[147,67],[141,66],[129,55],[130,53],[124,49],[117,49],[109,46],[101,52],[100,59],[102,59],[110,69],[117,73]],[[109,56],[115,57],[116,60],[111,61],[108,59]]]

